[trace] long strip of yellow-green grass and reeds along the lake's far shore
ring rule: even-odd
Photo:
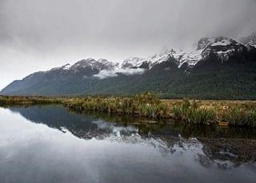
[[[256,127],[255,101],[160,100],[154,93],[134,97],[0,97],[0,105],[62,104],[70,110],[113,115],[173,118],[198,125]]]

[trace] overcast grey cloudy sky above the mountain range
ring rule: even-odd
[[[256,31],[256,0],[0,0],[0,90],[83,58],[122,62]]]

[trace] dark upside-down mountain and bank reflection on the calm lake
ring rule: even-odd
[[[157,140],[169,149],[175,144],[182,146],[192,140],[200,141],[203,151],[211,159],[256,161],[256,130],[242,128],[217,128],[210,126],[185,125],[174,121],[152,122],[148,119],[129,116],[109,116],[106,113],[68,113],[56,106],[34,106],[13,108],[26,119],[43,123],[62,132],[70,131],[83,139],[134,141]],[[172,150],[173,151],[173,150]]]

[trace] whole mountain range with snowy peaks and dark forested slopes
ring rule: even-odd
[[[2,95],[132,95],[146,90],[166,98],[256,99],[256,33],[202,38],[190,51],[166,50],[122,63],[83,59],[30,74]]]

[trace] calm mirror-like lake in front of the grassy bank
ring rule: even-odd
[[[255,129],[0,108],[5,182],[255,182]]]

